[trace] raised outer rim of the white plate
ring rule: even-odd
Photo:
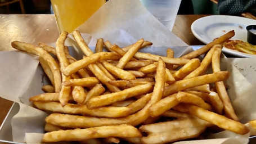
[[[224,17],[226,17],[227,19],[240,19],[240,20],[246,20],[246,21],[255,21],[255,24],[256,24],[256,20],[252,20],[252,19],[248,19],[246,17],[240,17],[240,16],[230,16],[230,15],[210,15],[210,16],[204,16],[204,17],[201,17],[200,19],[197,19],[195,20],[194,22],[192,22],[190,28],[191,28],[191,31],[192,31],[192,34],[197,38],[199,39],[201,42],[205,43],[205,44],[208,44],[210,42],[208,42],[208,40],[202,38],[199,34],[196,33],[195,31],[195,25],[197,24],[197,22],[200,22],[202,20],[207,20],[207,19],[212,19],[212,18],[217,18],[217,19],[223,19]],[[216,22],[218,23],[218,22]],[[239,24],[237,22],[237,24]],[[204,26],[206,27],[206,26]],[[251,55],[251,54],[248,54],[248,53],[243,53],[243,52],[239,52],[239,51],[235,51],[235,50],[230,50],[226,47],[223,47],[222,48],[222,51],[224,53],[228,53],[232,56],[237,56],[237,57],[256,57],[256,55]]]

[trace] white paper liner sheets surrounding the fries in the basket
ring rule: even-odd
[[[83,33],[84,39],[92,48],[95,46],[97,38],[110,40],[111,43],[116,43],[120,47],[144,38],[153,42],[154,47],[142,49],[143,52],[165,56],[167,47],[172,47],[175,56],[179,57],[191,51],[191,48],[188,47],[174,47],[187,46],[187,44],[166,29],[138,0],[111,0],[107,2],[78,30]],[[71,46],[75,46],[72,39],[67,40],[67,42]],[[79,51],[76,50],[71,51],[71,53],[75,57],[80,57]],[[255,73],[252,69],[256,66],[253,62],[255,59],[223,61],[222,65],[227,65],[226,67],[231,72],[231,77],[227,81],[231,87],[228,92],[239,118],[242,119],[242,122],[256,119],[255,106],[248,105],[255,101],[255,97],[252,95],[254,93],[252,86],[256,82],[256,77],[250,75]],[[240,67],[245,68],[244,63],[249,66],[246,68],[251,68],[244,70],[248,71],[246,73],[241,72],[240,69]],[[0,96],[20,103],[20,111],[12,118],[11,123],[13,141],[25,142],[26,140],[27,143],[39,143],[41,140],[39,137],[42,134],[38,133],[43,132],[44,118],[47,114],[30,107],[28,101],[29,97],[43,93],[41,87],[48,83],[42,69],[38,67],[38,57],[23,52],[0,52],[0,68]],[[240,142],[238,139],[241,138],[227,136],[227,138],[221,137],[221,139],[211,141],[213,143],[225,143],[227,141],[236,143]],[[243,140],[248,140],[248,136],[244,136]],[[207,140],[208,142],[210,141]],[[196,143],[206,142],[196,141]],[[246,141],[242,143],[246,143]]]

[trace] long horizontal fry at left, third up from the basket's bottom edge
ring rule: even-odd
[[[131,108],[129,107],[107,106],[89,110],[86,105],[66,104],[62,107],[59,102],[34,101],[33,104],[40,110],[52,111],[54,113],[85,114],[105,118],[119,118],[131,114]]]

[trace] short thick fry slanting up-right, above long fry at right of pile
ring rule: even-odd
[[[197,69],[200,66],[200,64],[201,64],[201,62],[199,59],[192,59],[191,61],[187,62],[186,65],[182,66],[181,69],[176,71],[173,74],[173,77],[176,80],[181,80],[181,79],[185,78],[188,74],[190,74],[192,71]]]

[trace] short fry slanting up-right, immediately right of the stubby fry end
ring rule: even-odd
[[[83,104],[86,104],[92,97],[100,96],[105,92],[105,88],[102,84],[96,84],[86,95],[86,100],[83,101]]]

